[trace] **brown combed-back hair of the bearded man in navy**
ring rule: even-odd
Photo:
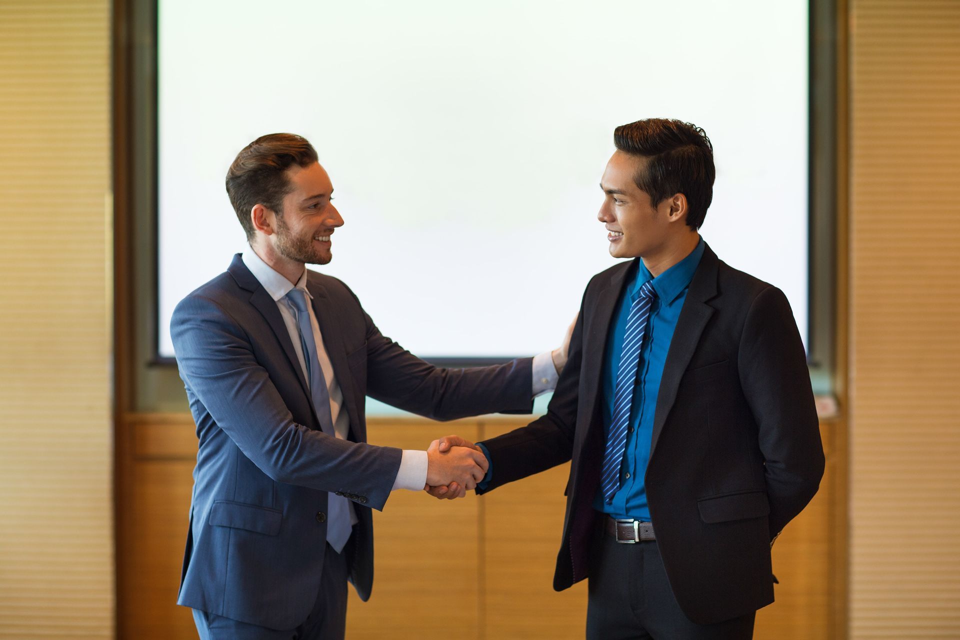
[[[237,154],[227,172],[227,195],[248,242],[254,234],[253,206],[263,204],[282,216],[283,197],[290,193],[287,169],[294,163],[308,167],[316,161],[316,150],[295,133],[261,135]]]

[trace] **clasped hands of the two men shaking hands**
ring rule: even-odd
[[[459,436],[434,440],[426,450],[426,485],[423,490],[441,500],[463,498],[487,475],[490,463],[473,442]]]

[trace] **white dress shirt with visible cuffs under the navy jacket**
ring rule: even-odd
[[[290,283],[286,276],[277,273],[260,256],[252,250],[244,251],[243,263],[253,274],[267,293],[274,298],[276,308],[280,311],[283,322],[287,325],[287,331],[290,333],[290,342],[294,345],[297,352],[297,359],[300,361],[300,367],[303,370],[303,377],[309,379],[304,360],[303,348],[300,346],[300,330],[297,325],[297,319],[290,312],[290,309],[283,303],[283,297],[290,293],[295,286],[301,289],[308,300],[313,296],[306,289],[306,268],[300,275],[300,280],[296,285]],[[320,333],[320,324],[313,313],[313,305],[307,304],[307,311],[310,314],[310,326],[313,328],[313,341],[317,344],[317,358],[320,360],[320,367],[324,371],[324,380],[326,380],[326,391],[330,395],[330,417],[333,419],[333,429],[339,439],[347,439],[349,431],[349,416],[344,411],[344,393],[340,390],[337,378],[333,373],[333,365],[330,364],[330,357],[326,354],[324,346],[324,337]],[[540,395],[547,391],[552,391],[557,386],[557,369],[553,366],[553,359],[550,352],[540,353],[534,358],[533,363],[533,394]],[[403,457],[400,459],[400,468],[396,473],[394,480],[394,489],[405,488],[414,491],[420,491],[426,484],[427,458],[426,451],[403,450]],[[353,512],[353,505],[349,505],[350,520],[356,524],[356,514]]]

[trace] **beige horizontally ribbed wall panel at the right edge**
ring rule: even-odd
[[[960,637],[960,3],[852,2],[851,637]]]

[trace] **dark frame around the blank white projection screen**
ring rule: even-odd
[[[115,182],[126,182],[124,188],[117,189],[117,194],[125,195],[127,206],[119,207],[118,211],[126,209],[132,216],[130,241],[133,247],[142,249],[132,254],[127,265],[132,273],[130,280],[151,283],[149,296],[143,296],[142,292],[131,296],[134,308],[128,317],[135,320],[132,368],[138,371],[137,377],[142,381],[155,381],[162,402],[168,393],[176,393],[173,391],[176,387],[180,387],[182,395],[182,387],[176,359],[158,352],[157,11],[158,0],[118,0],[115,4],[115,19],[121,18],[122,22],[117,28],[125,30],[128,36],[127,45],[116,55],[125,58],[122,66],[129,70],[128,77],[117,79],[117,84],[118,87],[126,85],[131,91],[126,105],[118,105],[120,108],[115,113],[117,135],[124,138],[115,143],[123,151],[116,155],[129,159],[129,165],[115,168]],[[828,393],[833,388],[836,362],[837,152],[840,144],[837,139],[836,0],[810,0],[808,12],[807,356],[814,390]],[[117,67],[116,62],[114,66]],[[502,363],[512,357],[464,356],[432,358],[430,362],[444,367],[474,367]],[[137,390],[140,387],[140,384],[134,385]]]

